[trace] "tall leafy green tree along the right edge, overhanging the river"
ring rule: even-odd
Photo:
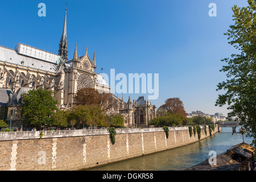
[[[247,136],[253,137],[256,144],[256,1],[248,0],[249,6],[232,8],[234,25],[228,32],[229,44],[237,49],[237,54],[225,58],[221,72],[227,72],[228,80],[220,82],[216,106],[228,104],[228,118],[236,118],[245,127]]]

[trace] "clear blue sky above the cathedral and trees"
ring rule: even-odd
[[[39,3],[46,16],[39,16]],[[216,15],[209,16],[210,3]],[[58,53],[63,30],[65,0],[0,1],[0,45],[15,48],[24,43]],[[221,60],[236,53],[224,35],[234,24],[232,7],[247,6],[245,0],[76,0],[67,1],[68,59],[75,45],[82,56],[96,54],[97,73],[159,75],[159,107],[168,98],[178,97],[185,111],[223,113],[227,106],[215,106]],[[211,11],[212,12],[212,11]],[[119,81],[115,78],[115,84]],[[147,77],[148,78],[148,77]],[[109,79],[110,81],[110,79]],[[127,81],[128,82],[128,81]],[[154,82],[153,88],[154,88]],[[109,82],[110,85],[110,82]],[[114,93],[117,95],[117,93]],[[151,93],[123,93],[125,101]],[[119,97],[122,93],[118,94]]]

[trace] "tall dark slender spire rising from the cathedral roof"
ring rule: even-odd
[[[67,3],[65,9],[65,18],[64,18],[64,25],[63,25],[63,32],[60,39],[59,44],[59,56],[61,56],[62,60],[68,61],[68,39],[67,39]]]

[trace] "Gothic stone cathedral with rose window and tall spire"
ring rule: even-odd
[[[13,127],[23,125],[21,97],[30,89],[45,89],[55,93],[59,109],[70,109],[75,102],[77,90],[94,88],[110,93],[110,86],[101,74],[96,72],[95,52],[91,60],[86,48],[83,56],[77,56],[77,46],[73,59],[68,60],[67,7],[63,32],[59,43],[59,53],[18,43],[16,49],[0,46],[0,119]],[[156,117],[156,107],[143,96],[125,102],[112,93],[113,106],[107,114],[121,114],[126,127],[146,127]]]

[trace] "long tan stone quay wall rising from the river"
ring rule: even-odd
[[[216,126],[212,134],[218,132]],[[67,171],[96,167],[120,160],[197,142],[188,127],[116,129],[112,144],[108,130],[0,132],[1,171]],[[41,134],[41,135],[40,135]],[[43,134],[43,136],[42,136]],[[201,129],[201,139],[209,137]]]

